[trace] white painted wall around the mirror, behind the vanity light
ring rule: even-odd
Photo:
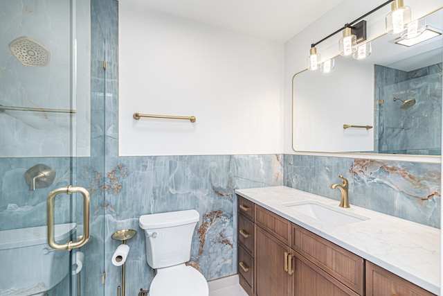
[[[353,21],[366,12],[377,7],[380,3],[365,0],[345,0],[333,10],[319,17],[304,31],[289,40],[284,46],[284,153],[296,154],[292,149],[292,78],[306,68],[306,57],[309,54],[311,43],[318,42],[345,23]],[[442,0],[405,0],[405,5],[412,10],[412,18],[417,19],[431,10],[443,6]],[[373,39],[386,31],[385,16],[390,12],[390,6],[385,6],[374,14],[365,17],[368,22],[368,39]],[[318,44],[318,52],[322,60],[327,60],[338,54],[338,40],[341,33]],[[315,153],[309,153],[315,154]],[[338,156],[338,155],[337,155]],[[345,155],[343,155],[345,156]],[[356,156],[356,155],[354,155]],[[349,157],[349,156],[347,156]],[[371,157],[371,156],[368,156]],[[372,157],[383,158],[379,155]],[[392,157],[390,157],[392,158]],[[413,159],[413,157],[410,157]]]

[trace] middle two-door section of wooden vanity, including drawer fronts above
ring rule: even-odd
[[[361,277],[359,290],[363,290],[363,259],[322,240],[316,234],[255,205],[255,295],[363,295],[343,283],[348,275],[351,281]],[[352,255],[356,258],[346,260]],[[359,272],[352,266],[356,261]],[[354,275],[350,275],[351,272]]]

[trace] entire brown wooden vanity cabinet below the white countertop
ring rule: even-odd
[[[433,295],[343,247],[237,196],[239,281],[248,295]],[[245,238],[240,230],[247,232],[249,236]],[[251,237],[253,239],[248,240]],[[247,272],[240,266],[242,262],[248,267]]]

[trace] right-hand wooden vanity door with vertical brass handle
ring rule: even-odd
[[[358,296],[314,263],[295,254],[295,296]]]

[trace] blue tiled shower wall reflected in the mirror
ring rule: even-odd
[[[442,63],[413,71],[376,65],[376,121],[379,153],[440,155]],[[401,100],[415,102],[406,109]]]

